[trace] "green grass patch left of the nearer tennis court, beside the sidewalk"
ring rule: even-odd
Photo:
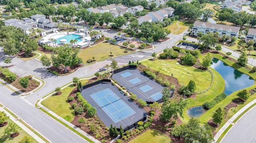
[[[70,106],[67,98],[74,88],[76,87],[74,87],[72,84],[61,90],[61,95],[55,96],[54,94],[53,96],[50,96],[46,100],[44,100],[41,104],[46,108],[52,110],[52,112],[56,113],[60,117],[71,122],[74,119],[75,113],[73,108]]]

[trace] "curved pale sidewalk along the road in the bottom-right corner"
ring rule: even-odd
[[[252,100],[250,103],[248,103],[248,104],[246,104],[246,106],[244,106],[242,109],[240,109],[238,112],[236,112],[236,114],[234,114],[221,128],[220,128],[220,130],[216,133],[216,135],[214,136],[214,140],[215,140],[215,142],[219,139],[219,137],[222,135],[222,133],[227,129],[227,127],[230,125],[230,124],[232,124],[232,125],[234,125],[234,124],[236,124],[236,123],[238,123],[238,121],[242,118],[240,118],[240,119],[238,119],[238,121],[236,121],[236,123],[233,123],[233,121],[240,115],[240,114],[242,114],[247,108],[249,108],[250,106],[252,106],[254,103],[256,103],[256,99],[254,99],[254,100]],[[253,108],[251,108],[250,110],[252,110]],[[250,111],[249,110],[249,111]],[[248,111],[247,111],[248,112]],[[246,112],[246,113],[247,113]],[[245,114],[246,114],[245,113]],[[244,115],[245,115],[244,114]],[[244,116],[243,115],[243,116]],[[234,127],[234,126],[232,126],[232,127]],[[230,129],[232,129],[232,127],[230,128]],[[228,133],[228,132],[227,132]],[[226,136],[226,134],[224,135],[224,137]],[[224,139],[224,137],[222,138],[222,139]]]

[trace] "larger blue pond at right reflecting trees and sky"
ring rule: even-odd
[[[213,58],[212,65],[210,67],[217,71],[225,80],[224,93],[227,94],[227,96],[235,91],[244,89],[254,84],[253,78],[228,66],[219,59]]]

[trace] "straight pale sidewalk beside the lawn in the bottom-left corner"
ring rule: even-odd
[[[40,137],[38,137],[38,135],[36,135],[34,132],[32,132],[28,127],[26,127],[23,123],[21,123],[19,121],[20,118],[14,118],[14,116],[12,116],[10,113],[8,113],[6,110],[4,110],[4,108],[7,108],[6,106],[3,106],[0,108],[0,111],[4,111],[7,116],[9,116],[9,118],[16,123],[19,127],[21,127],[24,131],[26,131],[29,135],[31,135],[31,137],[33,137],[36,141],[38,141],[39,143],[46,143],[44,140],[42,140]],[[8,109],[10,110],[10,109]],[[23,119],[21,119],[22,121],[24,121]],[[24,121],[25,122],[25,121]],[[26,122],[25,122],[26,123]],[[30,126],[31,127],[31,126]],[[33,127],[31,127],[33,128]],[[34,129],[34,128],[33,128]],[[36,129],[34,129],[36,131]],[[38,131],[36,131],[38,132]],[[39,132],[38,132],[39,133]],[[39,133],[40,135],[42,135],[41,133]],[[42,135],[43,136],[43,135]],[[44,136],[43,136],[44,137]],[[46,137],[44,137],[45,139],[47,139]],[[49,139],[47,139],[48,141],[50,141]],[[52,143],[50,141],[50,143]]]

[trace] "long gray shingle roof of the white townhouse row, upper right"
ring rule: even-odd
[[[230,29],[231,31],[234,31],[234,32],[239,32],[240,30],[240,27],[221,25],[221,24],[211,24],[211,23],[199,22],[199,21],[196,21],[194,25],[195,26],[204,25],[207,28],[213,27],[214,29],[222,29],[226,31]]]

